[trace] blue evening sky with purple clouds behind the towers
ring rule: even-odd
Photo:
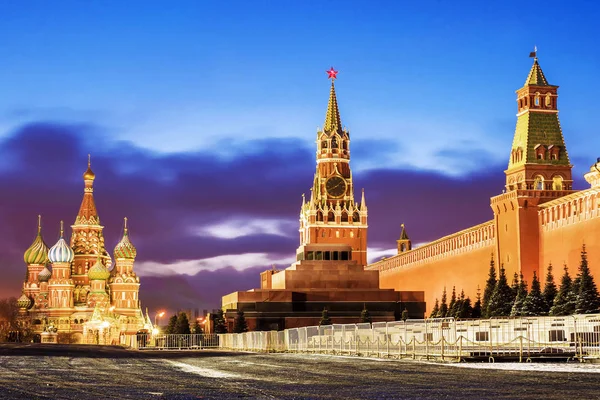
[[[401,222],[422,243],[491,219],[534,45],[585,187],[600,156],[600,6],[491,3],[0,2],[0,261],[12,268],[0,290],[18,291],[38,213],[50,245],[74,220],[90,152],[107,243],[129,216],[155,290],[191,277],[214,306],[256,286],[293,259],[330,66],[373,257]],[[198,274],[228,286],[199,288]]]

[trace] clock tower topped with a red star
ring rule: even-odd
[[[302,195],[300,245],[348,245],[352,260],[367,265],[367,205],[364,190],[360,203],[354,199],[350,132],[342,128],[340,119],[334,84],[337,73],[333,67],[327,71],[331,91],[325,124],[317,132],[317,171],[310,199]]]

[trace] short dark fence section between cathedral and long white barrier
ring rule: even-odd
[[[202,350],[219,348],[215,334],[137,334],[123,335],[120,343],[139,350]]]

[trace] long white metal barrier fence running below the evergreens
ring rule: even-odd
[[[600,358],[600,314],[407,320],[219,336],[221,348],[247,351],[489,361]]]

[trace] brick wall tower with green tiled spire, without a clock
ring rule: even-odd
[[[493,197],[496,252],[507,276],[539,276],[538,205],[572,193],[571,164],[558,120],[558,86],[550,85],[537,54],[517,90],[517,126],[506,174],[506,193]]]

